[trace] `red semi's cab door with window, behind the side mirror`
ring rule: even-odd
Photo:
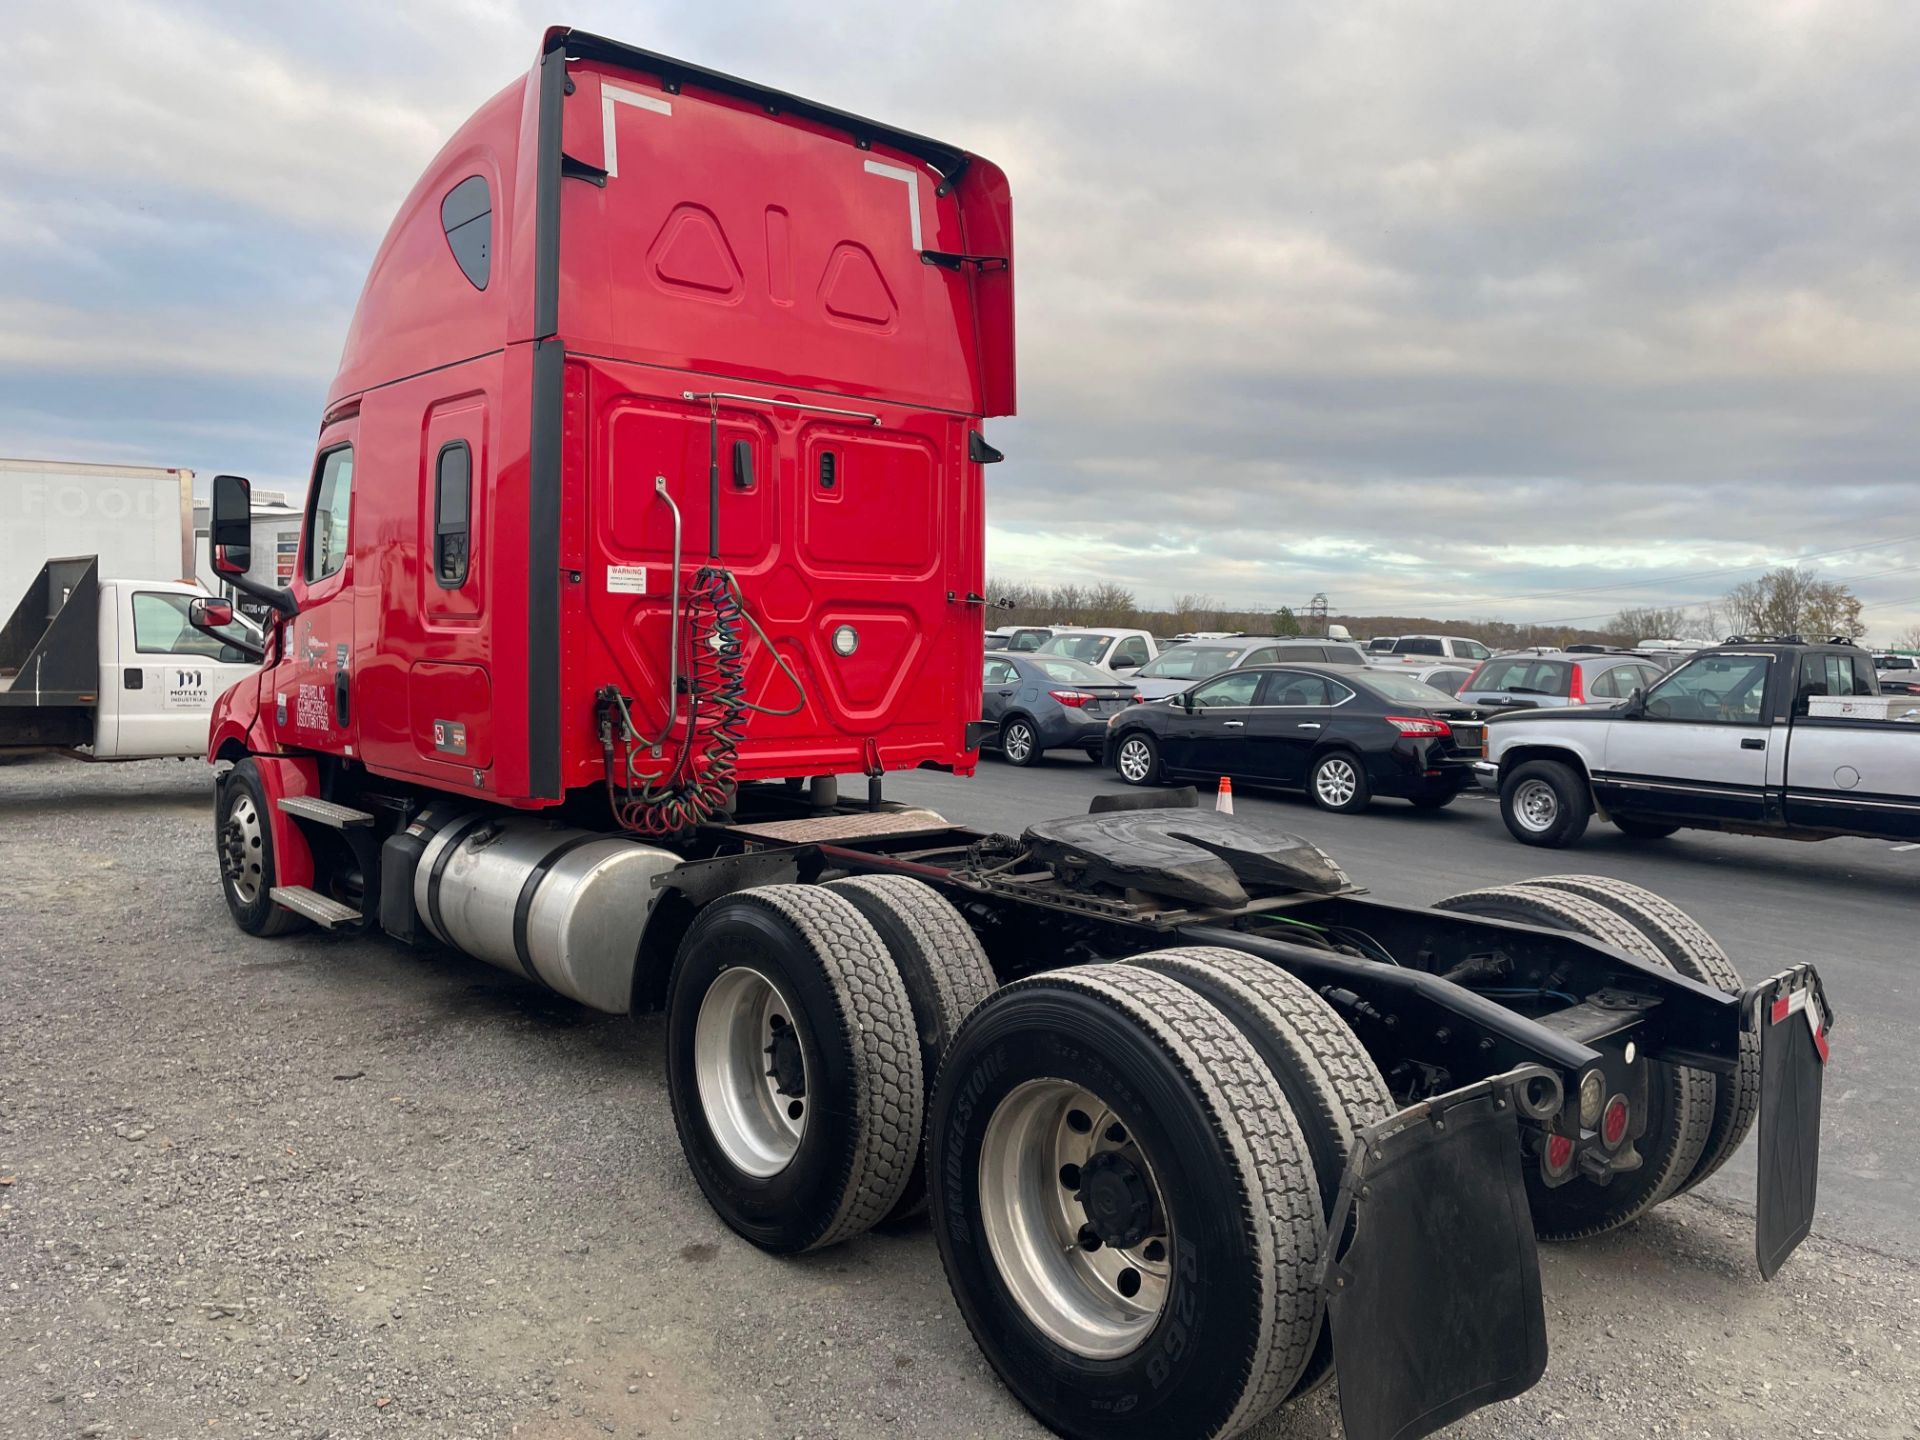
[[[328,426],[313,461],[273,712],[284,741],[353,753],[353,420]]]

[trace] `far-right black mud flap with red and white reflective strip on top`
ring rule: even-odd
[[[1812,966],[1793,966],[1741,996],[1761,1033],[1761,1154],[1755,1252],[1774,1279],[1812,1231],[1820,1190],[1820,1085],[1834,1023]]]

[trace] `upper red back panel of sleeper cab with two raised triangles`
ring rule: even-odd
[[[981,411],[973,278],[920,253],[964,250],[931,169],[641,73],[568,73],[566,154],[609,171],[561,190],[568,349]]]

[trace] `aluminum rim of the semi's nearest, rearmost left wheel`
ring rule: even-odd
[[[1152,1198],[1152,1227],[1127,1248],[1087,1242],[1089,1213],[1069,1187],[1106,1152],[1125,1158]],[[1117,1359],[1146,1340],[1167,1308],[1173,1225],[1146,1156],[1100,1096],[1035,1079],[1000,1100],[981,1139],[979,1204],[1000,1279],[1043,1334],[1087,1359]]]

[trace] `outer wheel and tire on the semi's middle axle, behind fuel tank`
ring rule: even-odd
[[[666,1089],[708,1204],[762,1250],[883,1219],[920,1148],[906,985],[845,895],[760,885],[687,927],[666,991]]]

